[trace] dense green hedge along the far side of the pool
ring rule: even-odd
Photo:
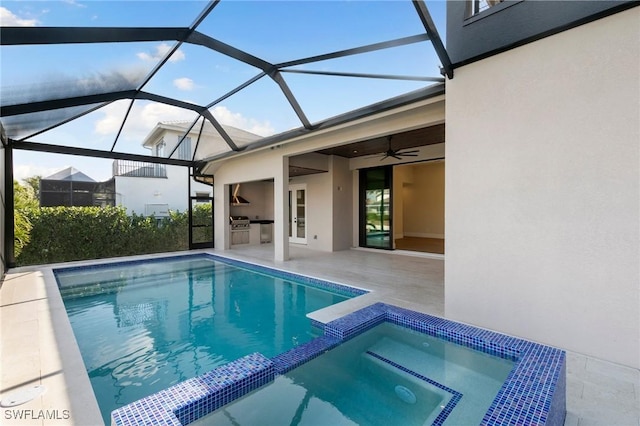
[[[20,213],[31,229],[16,258],[19,266],[187,250],[189,246],[187,213],[172,212],[161,221],[127,216],[122,207],[42,207]],[[211,217],[210,204],[196,206],[194,221],[206,221],[207,216]]]

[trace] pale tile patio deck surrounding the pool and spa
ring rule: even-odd
[[[318,320],[376,301],[432,315],[445,313],[442,258],[365,250],[324,253],[292,246],[290,260],[274,262],[270,245],[214,253],[372,290],[313,314]],[[147,257],[154,256],[138,258]],[[0,287],[0,397],[24,386],[43,384],[48,389],[29,403],[0,408],[2,419],[15,425],[99,424],[52,266],[11,270]],[[640,425],[640,371],[572,352],[567,359],[566,425]],[[10,411],[8,419],[7,410],[12,409],[18,411]],[[69,418],[15,418],[28,410],[32,417],[64,417],[64,410],[69,410]]]

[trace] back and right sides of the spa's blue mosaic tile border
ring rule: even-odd
[[[381,311],[384,314],[381,315]],[[382,316],[382,318],[380,318]],[[514,361],[514,367],[482,419],[482,425],[563,425],[566,416],[566,353],[501,333],[376,303],[329,322],[330,333],[346,338],[363,322],[388,321],[409,329]],[[337,328],[333,331],[331,328]],[[370,327],[369,327],[370,328]],[[365,328],[366,329],[366,328]],[[325,328],[327,333],[327,328]]]

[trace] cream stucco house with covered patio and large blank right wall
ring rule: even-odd
[[[640,7],[476,3],[447,2],[446,104],[210,158],[215,247],[233,249],[227,218],[247,214],[274,220],[280,261],[290,243],[389,249],[399,223],[443,200],[409,233],[445,239],[447,317],[638,368]],[[412,132],[415,157],[362,155]],[[232,204],[238,184],[251,205]]]

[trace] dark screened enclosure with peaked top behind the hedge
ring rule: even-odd
[[[40,179],[40,206],[113,206],[115,182],[96,182],[81,171],[68,167]]]

